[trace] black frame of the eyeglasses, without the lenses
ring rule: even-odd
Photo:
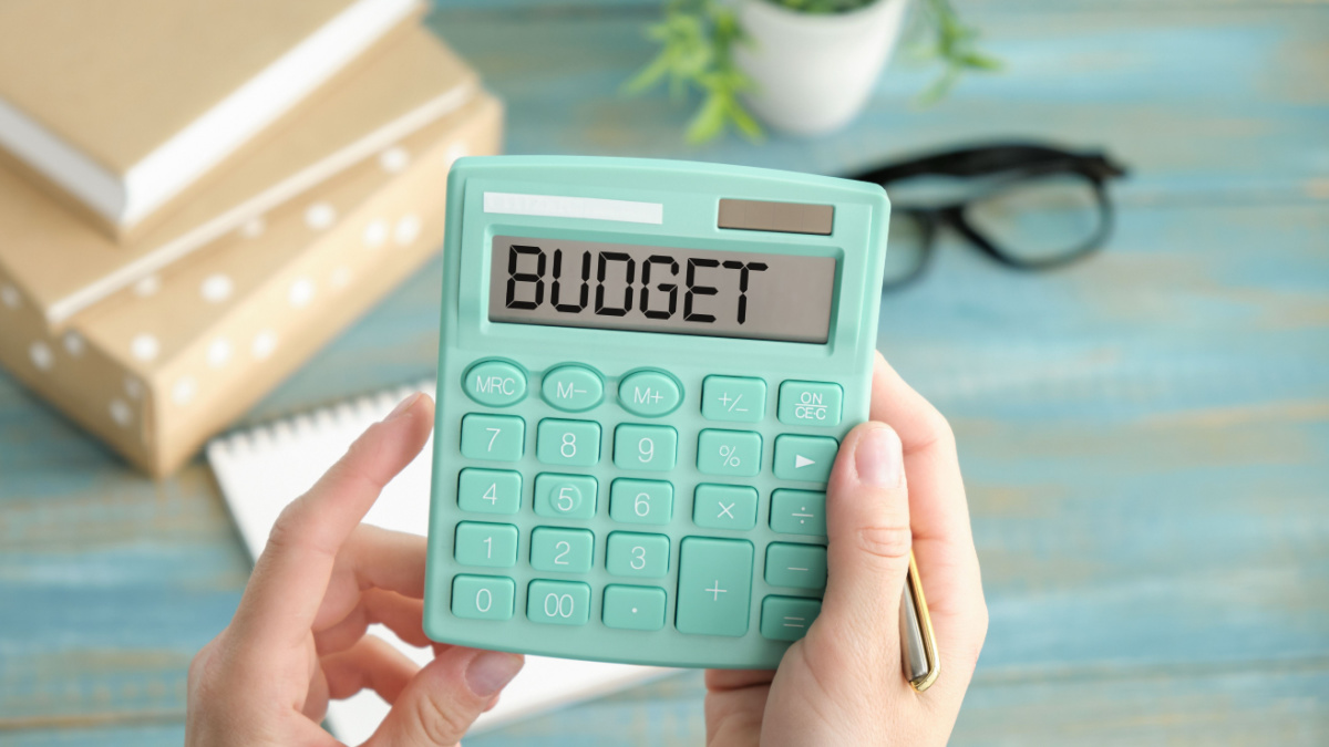
[[[1042,259],[1027,259],[1002,249],[999,242],[985,235],[968,217],[969,207],[1002,186],[1054,174],[1074,174],[1088,182],[1099,209],[1099,225],[1094,234],[1067,250]],[[1051,270],[1083,259],[1103,246],[1112,234],[1115,210],[1107,194],[1107,182],[1127,175],[1127,169],[1099,152],[1074,153],[1038,144],[994,144],[933,153],[921,158],[878,166],[856,177],[884,187],[914,177],[1001,177],[995,183],[964,199],[933,206],[892,205],[892,221],[908,217],[918,225],[921,257],[908,275],[882,283],[884,288],[897,288],[922,276],[930,263],[937,234],[949,227],[978,247],[995,262],[1015,270]],[[889,251],[889,247],[886,249]]]

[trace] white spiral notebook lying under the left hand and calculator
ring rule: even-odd
[[[343,401],[336,405],[239,431],[207,445],[207,461],[231,509],[250,556],[258,557],[282,508],[307,490],[365,428],[381,420],[415,391],[433,395],[432,381]],[[385,529],[424,534],[429,520],[431,447],[407,467],[369,509],[364,521]],[[373,634],[425,663],[427,649],[399,641],[383,626]],[[526,667],[504,690],[498,704],[480,716],[472,732],[540,711],[594,698],[674,670],[526,657]],[[328,726],[339,739],[359,744],[387,715],[388,706],[364,691],[328,707]]]

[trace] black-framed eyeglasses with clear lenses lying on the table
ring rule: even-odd
[[[941,229],[1015,270],[1083,259],[1112,233],[1104,185],[1126,167],[1103,153],[1002,144],[933,153],[856,177],[890,194],[882,287],[918,279]]]

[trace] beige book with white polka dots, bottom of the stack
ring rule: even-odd
[[[478,94],[56,332],[0,270],[0,363],[153,475],[173,472],[441,249],[448,169],[497,153]]]

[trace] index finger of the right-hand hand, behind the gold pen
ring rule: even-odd
[[[987,607],[950,424],[880,354],[872,419],[894,428],[904,447],[913,552],[938,650],[944,661],[961,654],[971,670],[987,630]]]

